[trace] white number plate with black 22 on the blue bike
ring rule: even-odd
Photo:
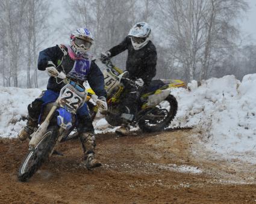
[[[76,110],[83,103],[83,97],[73,92],[71,89],[66,88],[61,91],[60,105],[61,107],[67,107],[68,109]]]

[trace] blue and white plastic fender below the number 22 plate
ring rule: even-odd
[[[72,113],[63,107],[59,107],[56,111],[58,112],[57,124],[65,130],[69,130],[72,127]]]

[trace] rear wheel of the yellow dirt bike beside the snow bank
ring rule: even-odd
[[[138,122],[139,127],[145,132],[161,131],[168,127],[176,115],[178,102],[173,95],[168,95],[160,104],[145,113]]]

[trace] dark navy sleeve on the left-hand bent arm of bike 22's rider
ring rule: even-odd
[[[41,71],[45,71],[45,68],[48,67],[48,61],[54,62],[57,65],[58,59],[61,59],[63,56],[63,52],[60,47],[54,46],[46,48],[39,52],[39,58],[37,61],[37,68]]]

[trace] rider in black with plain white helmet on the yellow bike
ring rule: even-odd
[[[120,44],[101,53],[101,59],[104,62],[106,59],[128,50],[126,71],[128,71],[128,79],[133,80],[134,85],[123,82],[128,93],[123,101],[126,113],[121,115],[123,124],[116,129],[117,134],[126,135],[130,132],[129,124],[133,121],[137,111],[136,101],[142,92],[146,92],[156,73],[157,51],[152,41],[149,40],[150,33],[151,29],[148,23],[136,23]]]

